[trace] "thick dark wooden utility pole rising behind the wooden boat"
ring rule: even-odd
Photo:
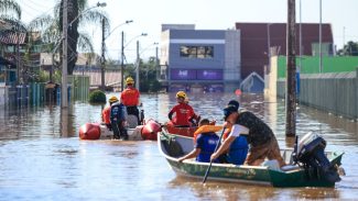
[[[288,0],[288,53],[286,53],[286,94],[285,94],[285,110],[286,110],[286,125],[285,135],[296,135],[296,27],[295,27],[295,0]]]

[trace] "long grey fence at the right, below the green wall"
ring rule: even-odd
[[[278,80],[278,97],[285,97],[285,79]],[[358,120],[358,68],[351,72],[301,75],[300,103]]]

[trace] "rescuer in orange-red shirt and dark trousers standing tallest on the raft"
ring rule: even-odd
[[[138,125],[141,124],[138,105],[140,105],[140,92],[134,88],[134,80],[131,77],[126,79],[127,88],[120,93],[120,101],[127,107],[127,113],[133,114],[138,119]]]

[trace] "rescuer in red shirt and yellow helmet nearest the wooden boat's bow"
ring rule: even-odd
[[[197,116],[194,109],[185,102],[187,96],[184,91],[176,93],[177,104],[169,112],[167,118],[176,127],[189,127],[194,119]],[[173,114],[175,113],[175,119]]]

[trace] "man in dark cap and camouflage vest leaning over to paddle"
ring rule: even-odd
[[[253,113],[249,111],[239,112],[238,109],[239,102],[236,100],[230,101],[224,109],[225,127],[231,129],[231,132],[210,159],[218,158],[228,150],[237,137],[246,135],[250,149],[245,165],[259,166],[268,157],[270,160],[278,160],[280,167],[284,166],[285,163],[280,154],[279,143],[272,130]]]

